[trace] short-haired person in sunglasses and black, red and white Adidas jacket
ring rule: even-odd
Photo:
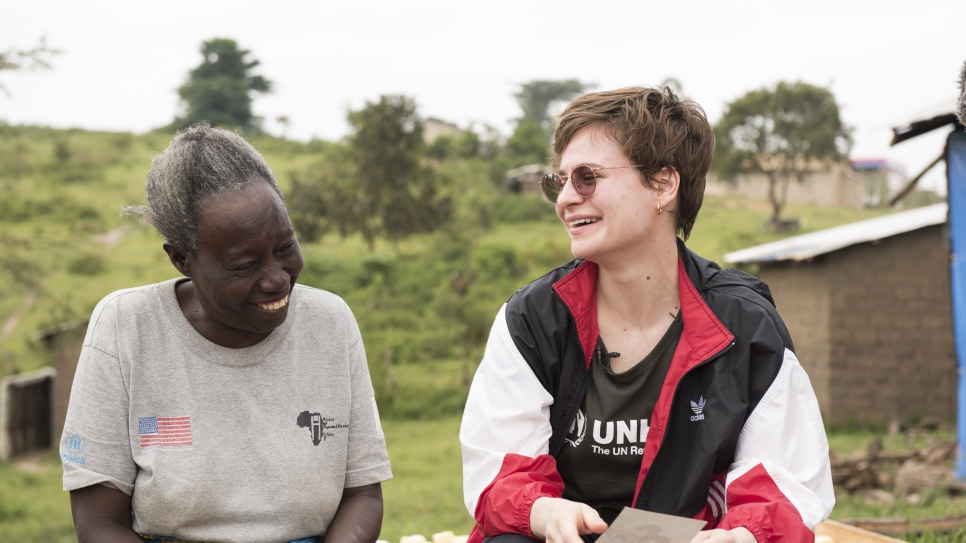
[[[543,192],[577,259],[490,332],[460,430],[471,543],[581,543],[624,507],[707,521],[695,541],[811,541],[834,496],[808,377],[768,288],[682,241],[704,112],[665,89],[588,94],[553,149]]]

